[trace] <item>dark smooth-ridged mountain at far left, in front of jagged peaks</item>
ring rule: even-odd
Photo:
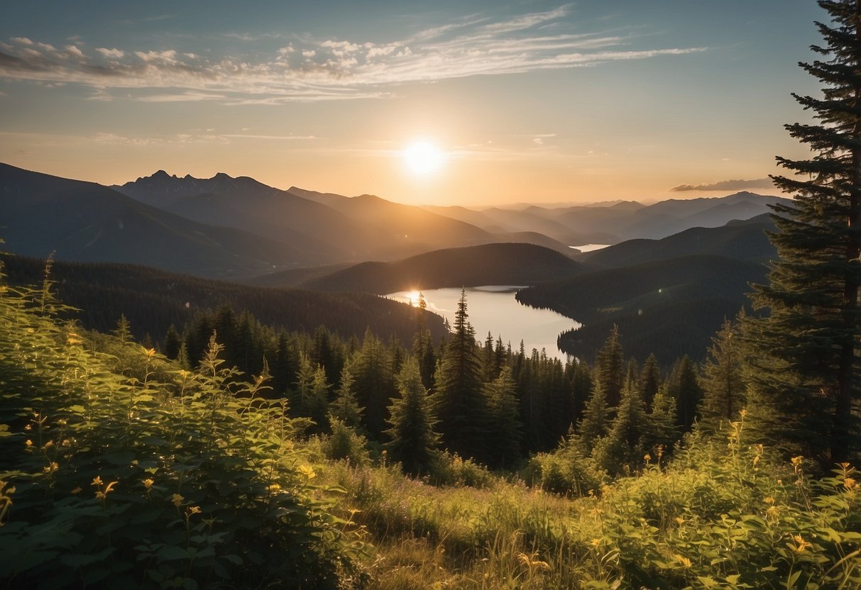
[[[131,262],[208,277],[244,276],[303,259],[283,243],[196,223],[95,182],[0,164],[3,248],[59,260]]]

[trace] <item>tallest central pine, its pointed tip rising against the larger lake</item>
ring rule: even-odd
[[[467,294],[462,291],[455,312],[455,331],[435,379],[435,400],[445,446],[462,457],[480,458],[486,434],[486,400],[475,332],[467,318]]]

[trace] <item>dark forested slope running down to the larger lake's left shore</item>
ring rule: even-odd
[[[34,258],[2,255],[11,285],[40,282],[44,263]],[[149,334],[156,341],[170,324],[182,327],[201,310],[230,304],[248,310],[262,323],[288,330],[313,331],[325,325],[344,337],[362,337],[365,330],[381,338],[396,335],[411,342],[419,311],[369,293],[319,293],[275,289],[205,280],[156,268],[128,264],[55,262],[55,291],[65,304],[83,310],[77,316],[84,327],[100,331],[115,328],[121,315],[135,335]],[[429,312],[426,323],[435,338],[444,333],[443,319]]]

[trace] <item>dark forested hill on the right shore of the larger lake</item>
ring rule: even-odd
[[[560,335],[567,353],[592,362],[616,323],[627,355],[645,360],[655,353],[669,366],[683,354],[702,360],[723,319],[748,304],[750,284],[765,281],[766,273],[758,262],[684,256],[533,286],[517,292],[517,300],[584,324]]]

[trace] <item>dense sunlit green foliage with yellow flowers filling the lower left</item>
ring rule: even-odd
[[[326,511],[263,378],[93,352],[30,293],[0,299],[0,571],[17,587],[336,587],[361,545]],[[14,491],[13,491],[14,488]]]

